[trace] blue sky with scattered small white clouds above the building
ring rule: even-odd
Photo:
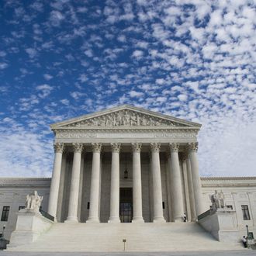
[[[201,175],[256,175],[255,5],[2,0],[0,175],[50,176],[50,123],[125,103],[202,123]]]

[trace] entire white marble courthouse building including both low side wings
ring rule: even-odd
[[[9,235],[18,206],[33,190],[43,195],[43,210],[57,223],[111,225],[179,223],[184,213],[196,222],[217,189],[234,210],[240,234],[245,225],[256,232],[256,178],[200,178],[199,123],[124,105],[50,127],[52,178],[0,179]]]

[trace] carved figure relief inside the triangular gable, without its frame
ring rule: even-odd
[[[106,115],[68,124],[67,127],[87,126],[184,126],[167,119],[142,114],[131,110],[121,110]]]

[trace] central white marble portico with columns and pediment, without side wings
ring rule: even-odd
[[[130,188],[132,222],[182,221],[184,212],[195,220],[205,210],[200,126],[133,106],[53,124],[48,213],[61,222],[120,222],[122,189]]]

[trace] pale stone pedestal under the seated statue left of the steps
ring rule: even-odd
[[[33,209],[21,209],[18,213],[16,230],[11,234],[8,247],[29,244],[47,231],[54,222]]]

